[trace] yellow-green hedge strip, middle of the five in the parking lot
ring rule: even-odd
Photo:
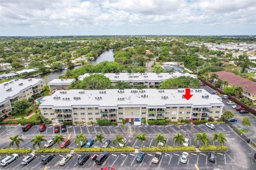
[[[74,148],[74,152],[134,152],[132,147],[124,148]]]

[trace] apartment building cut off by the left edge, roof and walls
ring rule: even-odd
[[[43,79],[16,79],[0,84],[0,120],[9,116],[15,101],[28,99],[40,93]]]

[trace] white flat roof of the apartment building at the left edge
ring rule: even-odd
[[[16,79],[0,84],[1,95],[0,104],[6,100],[13,99],[33,86],[37,86],[39,83],[43,82],[43,79]],[[8,90],[11,89],[11,90]],[[8,90],[8,91],[7,91]]]

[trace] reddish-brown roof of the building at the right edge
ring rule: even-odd
[[[218,74],[220,80],[226,80],[229,82],[229,84],[232,84],[233,86],[241,86],[244,91],[256,95],[256,82],[244,79],[242,77],[239,77],[238,75],[235,75],[234,73],[226,71],[218,71],[214,73]],[[244,87],[245,85],[247,85],[247,88]]]

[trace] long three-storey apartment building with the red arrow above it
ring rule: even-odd
[[[189,100],[182,97],[185,89],[107,89],[63,90],[41,100],[42,115],[55,122],[126,122],[178,119],[204,120],[220,118],[223,103],[217,95],[204,89],[192,89]]]

